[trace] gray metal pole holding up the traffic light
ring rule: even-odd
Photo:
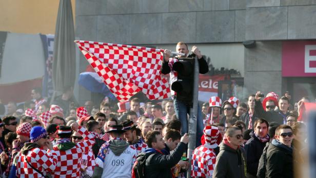
[[[194,80],[193,80],[193,108],[190,108],[189,117],[189,144],[187,156],[189,163],[191,163],[192,153],[195,149],[196,142],[196,122],[198,120],[198,95],[199,95],[199,62],[198,57],[194,58]],[[198,138],[199,139],[199,138]],[[189,164],[189,169],[187,171],[187,177],[191,177],[191,165]]]

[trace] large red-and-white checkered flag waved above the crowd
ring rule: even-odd
[[[118,101],[127,101],[139,91],[150,100],[169,97],[168,82],[160,72],[163,50],[87,41],[75,43]]]

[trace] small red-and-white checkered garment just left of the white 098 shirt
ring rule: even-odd
[[[95,166],[95,157],[90,149],[88,152],[83,154],[81,159],[81,168],[84,169],[87,167],[85,172],[81,172],[81,177],[92,177],[93,170]]]

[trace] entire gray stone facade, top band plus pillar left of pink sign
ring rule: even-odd
[[[260,86],[281,93],[281,41],[316,38],[315,16],[316,0],[77,0],[75,33],[133,45],[254,39],[256,48],[245,49],[245,94]],[[80,55],[81,71],[87,64]],[[83,88],[79,95],[88,97]]]

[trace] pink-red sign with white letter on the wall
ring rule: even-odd
[[[316,76],[316,41],[282,43],[282,76]]]

